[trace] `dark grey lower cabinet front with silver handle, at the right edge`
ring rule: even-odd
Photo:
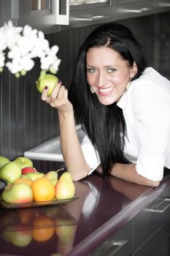
[[[134,217],[133,256],[158,255],[156,250],[170,236],[169,195],[170,188],[165,189],[147,208]]]

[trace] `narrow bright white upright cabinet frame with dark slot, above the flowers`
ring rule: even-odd
[[[56,25],[69,25],[69,0],[56,0]]]

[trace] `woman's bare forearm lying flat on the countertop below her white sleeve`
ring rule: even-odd
[[[151,181],[148,178],[140,176],[136,172],[134,164],[120,164],[116,163],[111,170],[111,175],[117,178],[121,178],[125,181],[134,182],[136,184],[141,184],[150,187],[158,187],[160,181]]]

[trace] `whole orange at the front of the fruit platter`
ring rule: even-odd
[[[36,202],[50,201],[53,200],[55,196],[55,187],[46,177],[36,178],[32,182],[31,187]]]

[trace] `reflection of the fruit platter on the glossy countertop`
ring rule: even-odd
[[[0,212],[1,237],[19,247],[31,242],[42,244],[58,238],[67,243],[74,236],[76,220],[63,206],[45,208],[20,208]]]

